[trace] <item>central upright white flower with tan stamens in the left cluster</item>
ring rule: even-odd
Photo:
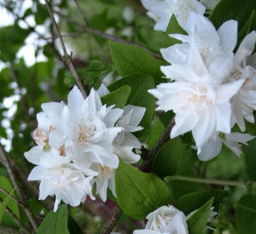
[[[84,100],[75,86],[68,94],[67,106],[62,111],[63,132],[54,131],[49,137],[51,145],[65,146],[79,168],[89,168],[93,163],[117,168],[119,158],[113,154],[113,139],[122,130],[114,127],[122,115],[121,109],[102,106],[94,89]]]

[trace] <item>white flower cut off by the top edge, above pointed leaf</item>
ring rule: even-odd
[[[172,14],[175,14],[180,26],[185,26],[190,12],[204,14],[206,8],[203,4],[196,0],[165,0],[152,1],[143,0],[143,6],[149,10],[150,15],[159,19],[157,20],[154,30],[166,31],[171,20]]]

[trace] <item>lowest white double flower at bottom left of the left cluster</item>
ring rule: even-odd
[[[72,206],[83,203],[91,192],[90,180],[96,172],[86,169],[79,170],[72,162],[71,157],[61,155],[61,152],[49,147],[35,146],[25,153],[26,159],[38,166],[32,169],[27,180],[39,180],[39,200],[55,195],[55,208],[61,200]]]

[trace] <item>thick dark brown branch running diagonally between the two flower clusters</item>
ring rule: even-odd
[[[152,170],[152,163],[154,161],[154,157],[156,156],[157,152],[160,150],[160,148],[168,141],[170,140],[170,132],[174,126],[174,117],[168,123],[166,129],[164,130],[163,134],[160,136],[160,139],[156,143],[153,149],[150,151],[146,151],[143,155],[146,160],[143,162],[143,164],[140,166],[139,170],[143,172],[151,172]],[[108,220],[105,222],[105,224],[102,226],[101,234],[109,234],[112,230],[114,225],[116,225],[117,221],[119,220],[120,215],[122,214],[122,209],[119,208],[119,205],[116,204],[108,218]]]

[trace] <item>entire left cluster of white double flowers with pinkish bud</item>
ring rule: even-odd
[[[38,113],[34,140],[38,146],[25,153],[35,165],[28,180],[39,180],[39,199],[55,195],[55,208],[63,200],[71,206],[83,203],[87,195],[96,194],[105,202],[107,189],[115,195],[114,172],[119,157],[137,163],[132,150],[140,142],[131,134],[141,130],[138,124],[145,108],[125,106],[124,110],[102,105],[92,88],[84,97],[76,86],[68,94],[67,105],[45,103]]]

